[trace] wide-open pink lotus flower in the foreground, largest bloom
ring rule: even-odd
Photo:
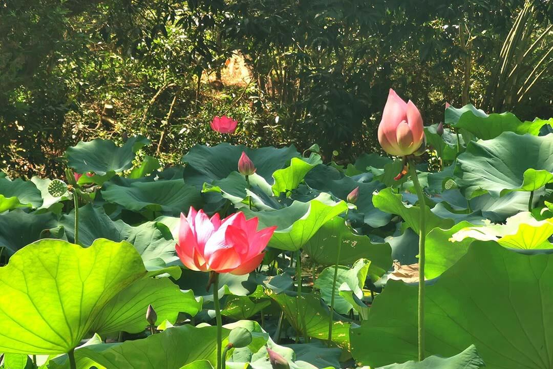
[[[180,215],[176,253],[193,271],[248,274],[263,261],[263,250],[276,229],[257,231],[257,224],[257,218],[246,220],[243,212],[210,219],[203,210],[190,207],[188,216]]]

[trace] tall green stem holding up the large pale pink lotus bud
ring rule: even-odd
[[[409,159],[409,170],[411,172],[411,180],[415,186],[416,194],[420,204],[420,222],[419,222],[419,305],[418,305],[418,340],[419,340],[419,361],[424,360],[424,263],[425,250],[424,242],[426,238],[426,202],[424,193],[419,183],[419,178],[416,174],[415,163],[413,159]]]

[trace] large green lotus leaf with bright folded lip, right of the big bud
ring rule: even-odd
[[[536,137],[504,132],[469,143],[457,162],[456,171],[469,199],[486,192],[499,197],[505,190],[537,190],[545,184],[545,171],[553,171],[553,134]]]

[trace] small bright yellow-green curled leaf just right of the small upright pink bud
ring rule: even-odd
[[[275,196],[296,189],[300,182],[304,180],[305,175],[321,163],[322,160],[319,154],[311,154],[309,159],[292,158],[289,167],[275,170],[273,173],[273,193]]]

